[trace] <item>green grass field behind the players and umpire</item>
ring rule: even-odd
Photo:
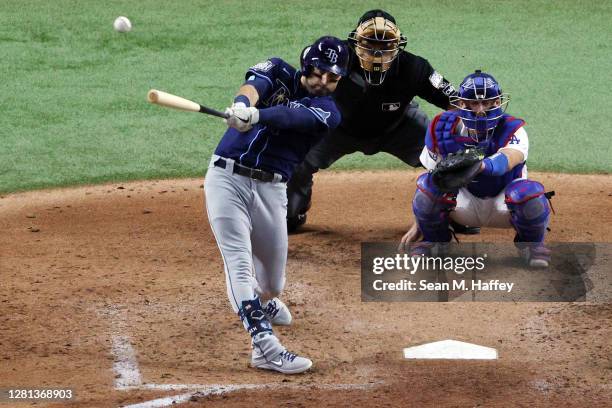
[[[200,176],[223,123],[149,105],[149,88],[222,109],[250,65],[297,63],[308,42],[345,37],[381,4],[407,49],[455,84],[475,68],[497,77],[527,120],[530,169],[612,170],[610,2],[4,0],[0,191]],[[131,33],[112,30],[119,15]],[[404,165],[356,154],[335,166],[385,167]]]

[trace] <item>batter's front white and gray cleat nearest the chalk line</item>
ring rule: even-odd
[[[253,338],[251,364],[255,368],[283,374],[299,374],[312,367],[312,361],[287,351],[271,333],[261,333]]]

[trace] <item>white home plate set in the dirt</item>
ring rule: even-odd
[[[404,358],[439,360],[496,360],[497,350],[457,340],[442,340],[404,349]]]

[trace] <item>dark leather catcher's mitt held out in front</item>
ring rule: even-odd
[[[443,193],[457,191],[476,177],[483,158],[483,152],[476,148],[451,153],[433,169],[432,180]]]

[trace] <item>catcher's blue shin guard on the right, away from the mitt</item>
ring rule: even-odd
[[[518,241],[543,242],[550,219],[544,186],[537,181],[518,179],[506,186],[505,194]]]

